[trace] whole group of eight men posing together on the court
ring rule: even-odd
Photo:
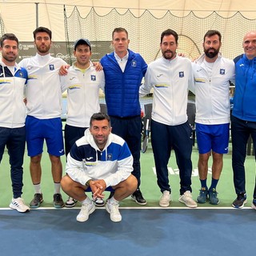
[[[54,207],[65,205],[60,193],[61,186],[70,196],[66,206],[74,206],[77,200],[82,203],[78,222],[85,222],[89,218],[95,210],[94,204],[104,205],[103,193],[106,188],[112,190],[106,200],[106,210],[114,222],[122,220],[118,204],[123,198],[131,195],[135,202],[145,205],[146,199],[140,190],[142,122],[139,97],[150,93],[152,88],[151,142],[157,182],[162,192],[159,205],[170,205],[167,164],[171,150],[174,150],[179,168],[179,201],[191,208],[197,207],[197,202],[205,203],[207,200],[217,205],[216,187],[230,137],[231,81],[235,83],[231,135],[237,194],[232,205],[242,208],[246,203],[244,162],[250,134],[256,145],[256,106],[252,98],[256,88],[256,32],[246,34],[243,40],[245,54],[234,62],[219,53],[221,40],[222,36],[217,30],[207,31],[202,44],[204,54],[195,62],[190,62],[176,52],[178,34],[174,30],[165,30],[160,40],[162,58],[147,66],[140,54],[128,49],[128,32],[124,28],[116,28],[112,34],[114,52],[106,54],[95,70],[90,62],[90,41],[86,38],[74,42],[76,62],[68,67],[66,62],[50,56],[51,31],[47,28],[34,30],[37,54],[19,64],[15,62],[18,38],[14,34],[4,34],[0,45],[0,161],[6,146],[10,155],[14,194],[10,207],[26,212],[42,203],[40,162],[44,140],[54,180]],[[141,86],[143,77],[145,80]],[[106,95],[108,115],[98,113],[100,88]],[[64,154],[64,145],[60,115],[64,90],[67,90],[68,98],[65,127],[67,162],[66,175],[62,178],[60,156]],[[196,95],[201,182],[197,202],[191,194],[193,140],[186,115],[188,90]],[[35,191],[30,208],[21,198],[25,142]],[[213,158],[213,175],[208,188],[206,179],[210,155]],[[92,192],[94,202],[86,196],[85,190]],[[256,188],[251,206],[256,209]]]

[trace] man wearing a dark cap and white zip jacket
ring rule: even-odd
[[[95,70],[91,57],[90,41],[80,38],[74,42],[74,57],[76,62],[68,69],[66,76],[67,116],[65,126],[66,156],[78,138],[84,136],[90,126],[90,117],[100,111],[98,102],[99,89],[104,89],[105,78],[103,71]],[[66,207],[75,206],[74,198],[68,198]],[[103,206],[101,198],[95,199],[96,206]]]

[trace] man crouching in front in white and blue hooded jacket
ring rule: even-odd
[[[112,188],[114,196],[107,200],[106,210],[112,222],[121,222],[119,202],[133,194],[138,186],[132,170],[133,157],[126,142],[111,134],[110,117],[93,114],[90,128],[67,156],[66,175],[61,182],[62,190],[82,204],[77,221],[86,222],[95,210],[85,190],[91,190],[94,198],[104,198],[106,188]]]

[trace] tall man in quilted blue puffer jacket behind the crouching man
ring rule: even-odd
[[[146,205],[139,189],[141,183],[141,106],[138,90],[146,74],[147,65],[140,54],[128,49],[130,40],[124,28],[115,28],[112,33],[114,52],[106,54],[101,64],[105,73],[105,95],[107,112],[112,123],[112,132],[122,137],[134,157],[134,176],[138,189],[132,198],[140,205]]]

